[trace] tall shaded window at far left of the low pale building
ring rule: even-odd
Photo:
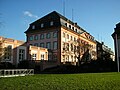
[[[5,49],[4,59],[7,61],[10,61],[11,56],[12,56],[12,46],[9,45],[9,46],[5,47],[4,49]]]

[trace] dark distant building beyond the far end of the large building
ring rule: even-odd
[[[114,61],[114,52],[104,44],[104,42],[97,42],[97,59],[98,60],[108,60],[111,59]]]

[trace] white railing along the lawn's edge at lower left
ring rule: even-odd
[[[0,69],[0,77],[34,75],[34,69]]]

